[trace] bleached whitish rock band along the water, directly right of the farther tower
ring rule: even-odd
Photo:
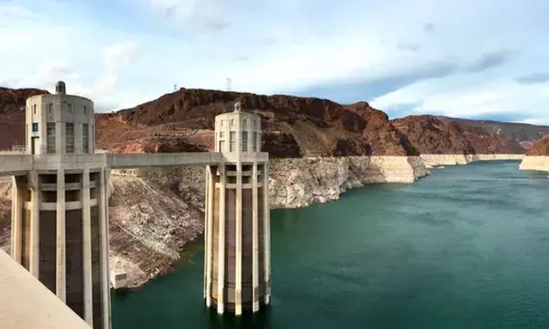
[[[372,183],[412,183],[428,174],[419,157],[342,157],[271,160],[272,208],[299,208],[338,199]]]

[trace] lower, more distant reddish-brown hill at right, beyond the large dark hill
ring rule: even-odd
[[[391,123],[423,154],[512,154],[526,151],[519,142],[486,131],[482,125],[466,124],[466,121],[413,115]]]

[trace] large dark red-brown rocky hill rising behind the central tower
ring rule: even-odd
[[[111,149],[163,136],[210,149],[214,117],[232,109],[234,102],[260,115],[262,150],[273,158],[417,154],[387,114],[367,102],[344,106],[318,98],[191,89],[98,115],[98,143]]]

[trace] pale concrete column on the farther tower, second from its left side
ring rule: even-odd
[[[227,178],[225,176],[225,164],[220,164],[220,225],[219,225],[219,250],[218,250],[218,272],[217,272],[217,313],[224,312],[224,294],[225,290],[225,185]]]

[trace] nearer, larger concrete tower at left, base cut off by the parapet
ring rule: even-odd
[[[108,170],[93,156],[93,102],[67,95],[64,82],[55,90],[26,101],[34,169],[13,179],[12,256],[93,328],[109,329]]]

